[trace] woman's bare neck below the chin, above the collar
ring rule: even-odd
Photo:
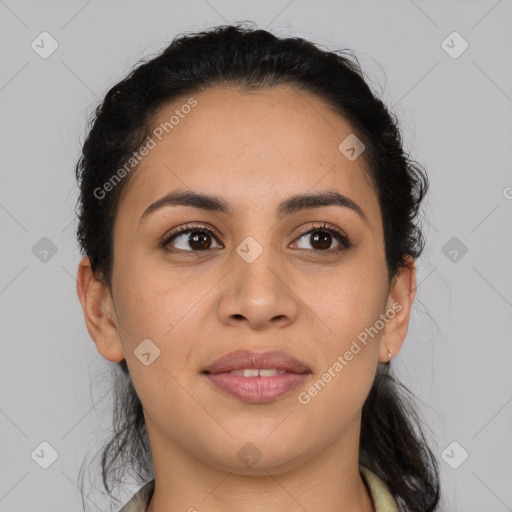
[[[266,463],[262,457],[242,469],[234,462],[214,465],[207,454],[198,460],[162,436],[150,418],[146,424],[155,469],[147,512],[375,512],[359,473],[359,424],[313,456],[294,454],[293,460]]]

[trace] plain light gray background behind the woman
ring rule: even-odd
[[[399,117],[431,191],[417,302],[392,365],[430,426],[446,510],[511,511],[510,0],[0,1],[0,510],[80,510],[77,470],[111,421],[110,363],[75,290],[86,116],[178,33],[240,20],[355,49]],[[43,31],[59,45],[46,59],[31,47]],[[458,58],[442,46],[453,31],[469,44]],[[46,261],[43,237],[57,249]],[[48,469],[31,457],[43,441],[58,452]]]

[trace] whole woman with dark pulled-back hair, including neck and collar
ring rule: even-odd
[[[390,374],[428,181],[355,61],[222,26],[98,107],[76,169],[77,292],[116,363],[123,512],[433,511],[436,460]]]

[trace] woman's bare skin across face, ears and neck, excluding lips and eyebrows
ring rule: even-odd
[[[123,191],[112,291],[93,275],[88,257],[78,268],[88,331],[105,359],[126,358],[143,405],[156,478],[148,510],[374,511],[358,471],[361,410],[378,362],[389,360],[388,350],[394,357],[405,339],[414,260],[388,281],[364,153],[349,161],[338,150],[353,130],[323,99],[288,86],[246,94],[216,87],[194,98],[198,105]],[[155,126],[186,99],[162,108]],[[175,189],[221,196],[235,215],[166,207],[139,224],[151,203]],[[367,222],[338,206],[277,220],[277,205],[289,196],[326,190],[359,204]],[[299,238],[300,229],[321,222],[343,230],[353,247],[335,253],[334,237],[327,250],[314,233]],[[159,246],[187,223],[215,230],[210,249],[194,252],[190,234],[174,247]],[[252,263],[236,252],[247,236],[263,248]],[[379,334],[307,405],[299,403],[298,393],[393,303],[402,309]],[[147,338],[160,349],[149,366],[134,355]],[[312,375],[275,402],[242,402],[201,374],[238,349],[283,350]],[[248,442],[261,453],[251,467],[237,457]]]

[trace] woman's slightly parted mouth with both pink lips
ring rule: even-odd
[[[216,389],[252,404],[274,402],[312,374],[305,363],[284,352],[247,350],[226,354],[202,373]]]

